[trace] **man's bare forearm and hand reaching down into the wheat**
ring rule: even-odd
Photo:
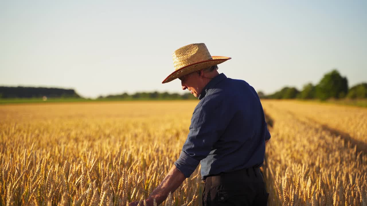
[[[157,205],[162,203],[167,198],[168,194],[170,192],[173,193],[185,179],[186,177],[183,173],[173,165],[161,184],[149,195],[146,200],[147,205],[153,205],[154,199],[156,199]],[[139,202],[132,202],[129,206],[137,206],[138,203]]]

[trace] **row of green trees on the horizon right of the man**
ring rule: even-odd
[[[318,84],[305,84],[301,91],[295,87],[284,87],[270,95],[258,92],[259,96],[267,99],[365,99],[367,98],[367,83],[362,82],[348,88],[348,80],[334,69],[326,73]]]

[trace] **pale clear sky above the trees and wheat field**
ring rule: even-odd
[[[0,1],[0,85],[84,97],[168,91],[172,53],[205,43],[219,73],[257,91],[302,89],[336,68],[367,82],[367,1]]]

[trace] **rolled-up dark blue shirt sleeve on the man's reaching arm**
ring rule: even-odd
[[[185,177],[190,177],[201,159],[208,156],[228,124],[228,115],[221,102],[215,102],[214,105],[199,103],[196,106],[191,118],[190,132],[175,162],[175,166]]]

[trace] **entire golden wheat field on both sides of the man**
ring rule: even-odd
[[[0,205],[127,205],[178,158],[197,101],[0,106]],[[263,100],[269,205],[367,206],[367,109]],[[200,165],[162,205],[201,205]]]

